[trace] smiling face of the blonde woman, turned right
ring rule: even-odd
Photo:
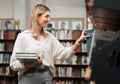
[[[50,21],[50,12],[49,11],[46,11],[41,16],[38,16],[38,25],[40,27],[46,28],[49,21]]]

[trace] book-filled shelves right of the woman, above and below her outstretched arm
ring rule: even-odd
[[[72,46],[81,35],[82,30],[58,29],[50,32],[62,43],[63,46]],[[53,84],[81,84],[84,82],[85,63],[87,52],[80,46],[74,56],[66,60],[55,60]],[[83,59],[84,58],[84,59]]]

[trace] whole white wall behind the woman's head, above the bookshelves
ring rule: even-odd
[[[20,19],[20,28],[29,28],[32,8],[38,3],[51,9],[52,18],[84,18],[86,24],[84,0],[0,0],[0,18]]]

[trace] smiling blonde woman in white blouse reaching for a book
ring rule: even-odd
[[[75,54],[80,43],[87,38],[83,30],[71,47],[64,47],[51,33],[45,31],[50,21],[50,9],[38,4],[31,16],[30,29],[19,33],[10,59],[10,67],[18,71],[18,84],[52,84],[54,59],[67,59]],[[16,58],[16,53],[36,53],[38,59],[26,64]]]

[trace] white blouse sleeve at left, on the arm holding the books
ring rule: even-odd
[[[12,55],[11,55],[11,58],[10,58],[10,67],[12,70],[14,71],[19,71],[20,69],[24,69],[24,64],[21,63],[16,57],[15,57],[15,54],[16,52],[21,52],[22,51],[22,36],[21,34],[19,33],[17,38],[16,38],[16,41],[15,41],[15,44],[14,44],[14,48],[13,48],[13,52],[12,52]]]

